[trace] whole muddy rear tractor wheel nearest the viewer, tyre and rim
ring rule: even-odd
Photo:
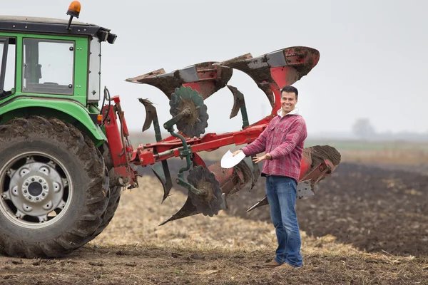
[[[73,125],[18,118],[0,126],[0,253],[61,257],[103,222],[108,171]]]

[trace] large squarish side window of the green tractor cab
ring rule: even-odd
[[[73,95],[73,41],[24,38],[22,91]]]

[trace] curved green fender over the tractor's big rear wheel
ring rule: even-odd
[[[103,130],[93,122],[85,106],[76,100],[17,96],[0,105],[0,123],[14,118],[41,115],[58,118],[86,133],[99,147],[107,140]]]

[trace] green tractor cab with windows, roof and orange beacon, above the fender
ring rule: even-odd
[[[82,105],[101,98],[101,43],[107,28],[70,19],[0,16],[0,104],[16,96],[61,97]]]

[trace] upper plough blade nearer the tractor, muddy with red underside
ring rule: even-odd
[[[233,73],[232,68],[213,66],[213,63],[215,61],[198,63],[170,73],[160,69],[135,78],[128,78],[126,81],[155,86],[165,93],[168,99],[175,88],[182,85],[190,86],[206,99],[225,87]]]

